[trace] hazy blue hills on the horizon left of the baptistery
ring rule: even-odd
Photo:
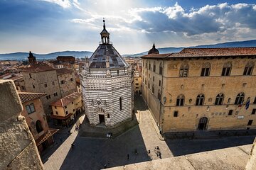
[[[89,51],[63,51],[63,52],[52,52],[46,55],[39,55],[36,53],[33,53],[34,56],[36,56],[36,60],[49,60],[49,59],[55,59],[59,55],[64,56],[73,56],[77,58],[82,58],[85,56],[90,57],[92,55],[92,52]],[[28,60],[28,52],[15,52],[15,53],[9,53],[9,54],[0,54],[0,60]]]

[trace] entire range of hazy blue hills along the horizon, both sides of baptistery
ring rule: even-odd
[[[207,47],[256,47],[256,40],[246,40],[246,41],[235,41],[235,42],[225,42],[225,43],[218,43],[214,45],[197,45],[197,46],[191,46],[191,48],[207,48]],[[158,48],[160,54],[164,53],[171,53],[171,52],[180,52],[183,50],[184,47],[163,47]],[[150,50],[150,49],[149,49]],[[137,54],[131,54],[131,55],[122,55],[123,57],[140,57],[142,55],[147,55],[146,52],[141,52]],[[63,51],[63,52],[52,52],[46,55],[39,55],[33,53],[34,56],[36,56],[37,60],[49,60],[49,59],[55,59],[59,55],[71,55],[74,57],[82,58],[85,56],[90,57],[92,55],[92,52],[90,51]],[[9,53],[9,54],[0,54],[0,60],[27,60],[28,58],[28,52],[15,52],[15,53]]]

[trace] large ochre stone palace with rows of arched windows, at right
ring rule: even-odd
[[[142,57],[142,95],[161,132],[256,128],[256,47]]]

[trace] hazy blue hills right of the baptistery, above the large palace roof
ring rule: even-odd
[[[235,42],[224,42],[214,45],[197,45],[191,46],[191,48],[216,48],[216,47],[256,47],[256,40],[246,40],[246,41],[235,41]],[[160,54],[171,53],[171,52],[180,52],[184,47],[164,47],[158,48]],[[150,49],[149,49],[150,50]],[[147,55],[146,52],[137,53],[134,55],[122,55],[124,57],[140,57],[142,55]]]

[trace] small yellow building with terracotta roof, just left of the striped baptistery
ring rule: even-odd
[[[51,103],[53,109],[53,123],[55,125],[69,125],[79,113],[83,111],[82,95],[78,92],[60,98]]]

